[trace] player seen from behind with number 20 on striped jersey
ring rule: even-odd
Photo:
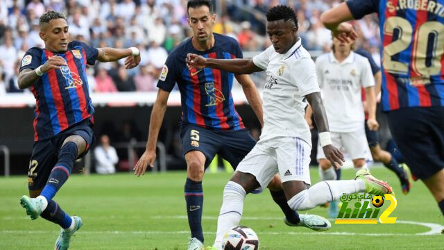
[[[444,0],[419,6],[394,0],[348,0],[321,21],[340,40],[355,39],[350,24],[377,12],[382,40],[382,110],[414,178],[444,215]]]

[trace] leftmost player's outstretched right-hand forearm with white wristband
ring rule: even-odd
[[[99,62],[114,62],[125,58],[126,69],[132,69],[140,63],[140,52],[139,49],[131,47],[129,49],[114,49],[114,48],[99,48],[99,55],[97,60]]]

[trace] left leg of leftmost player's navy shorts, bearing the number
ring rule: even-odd
[[[42,190],[49,174],[58,160],[58,147],[51,140],[35,142],[29,160],[28,189],[31,192]]]

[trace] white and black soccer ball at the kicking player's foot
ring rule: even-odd
[[[253,229],[247,226],[234,226],[223,235],[223,250],[257,250],[259,238]]]

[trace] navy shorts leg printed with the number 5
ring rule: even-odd
[[[216,152],[222,147],[222,140],[214,131],[195,125],[180,128],[184,156],[191,151],[199,151],[205,156],[204,168],[210,165]]]

